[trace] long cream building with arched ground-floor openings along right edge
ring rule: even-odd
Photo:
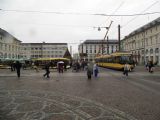
[[[160,17],[126,36],[121,49],[132,52],[139,64],[151,60],[160,65]]]

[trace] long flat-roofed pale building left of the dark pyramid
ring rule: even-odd
[[[22,43],[23,59],[64,57],[67,43]]]

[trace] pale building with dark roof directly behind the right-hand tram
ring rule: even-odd
[[[103,48],[103,49],[102,49]],[[98,54],[110,54],[118,50],[118,40],[86,40],[78,46],[80,58],[94,61]]]

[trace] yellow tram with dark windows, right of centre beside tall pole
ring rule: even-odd
[[[123,70],[124,64],[128,63],[130,70],[134,69],[134,60],[131,53],[115,52],[110,55],[101,55],[95,58],[95,62],[100,67]]]

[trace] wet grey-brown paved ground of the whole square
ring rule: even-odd
[[[85,72],[52,71],[47,79],[24,70],[18,79],[0,70],[0,120],[159,120],[160,72],[139,70],[127,81],[104,69],[92,80]]]

